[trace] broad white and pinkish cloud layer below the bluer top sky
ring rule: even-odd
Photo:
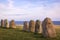
[[[17,7],[13,5],[14,0],[8,0],[7,5],[0,3],[0,19],[43,20],[45,17],[50,17],[52,20],[60,20],[60,3],[42,3],[39,4],[37,2],[33,4],[27,2],[26,4]]]

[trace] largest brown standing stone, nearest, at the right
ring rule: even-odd
[[[42,23],[43,36],[44,37],[50,37],[50,38],[56,37],[56,31],[55,31],[54,27],[55,26],[52,23],[51,19],[45,18],[45,20]]]

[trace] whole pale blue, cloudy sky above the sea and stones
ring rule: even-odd
[[[46,17],[60,21],[60,0],[0,0],[0,20],[43,21]]]

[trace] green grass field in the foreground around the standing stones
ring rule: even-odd
[[[56,27],[56,38],[44,38],[41,34],[22,31],[20,29],[0,28],[0,40],[60,40],[60,27]]]

